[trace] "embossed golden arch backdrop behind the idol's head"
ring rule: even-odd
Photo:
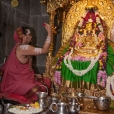
[[[114,18],[114,5],[110,0],[81,0],[77,3],[75,3],[69,10],[66,20],[63,23],[62,27],[62,41],[61,44],[64,45],[66,42],[69,41],[69,39],[73,36],[76,23],[78,20],[81,19],[82,15],[85,14],[87,11],[85,8],[87,6],[94,7],[97,6],[98,13],[100,17],[102,17],[103,21],[105,21],[108,31],[107,31],[107,37],[110,39],[110,30],[113,24],[113,18]],[[94,5],[93,5],[94,4]],[[110,7],[110,8],[109,8]]]

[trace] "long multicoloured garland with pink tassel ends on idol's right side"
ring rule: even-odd
[[[102,26],[102,23],[101,23],[101,19],[99,17],[99,14],[98,12],[96,11],[95,12],[95,15],[96,15],[96,23],[97,23],[97,26],[100,30],[99,34],[98,34],[98,37],[101,39],[101,56],[100,56],[100,59],[99,59],[99,71],[98,71],[98,74],[97,74],[97,84],[100,85],[100,80],[102,79],[102,87],[105,87],[105,83],[106,83],[106,79],[107,79],[107,73],[105,71],[106,69],[106,60],[107,60],[107,52],[106,52],[106,42],[105,42],[105,36],[104,36],[104,29],[103,29],[103,26]]]

